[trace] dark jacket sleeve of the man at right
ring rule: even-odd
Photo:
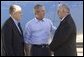
[[[59,26],[58,29],[55,32],[53,41],[50,44],[50,48],[52,51],[62,43],[64,43],[67,39],[68,36],[71,34],[72,28],[69,24],[64,24],[64,26]]]

